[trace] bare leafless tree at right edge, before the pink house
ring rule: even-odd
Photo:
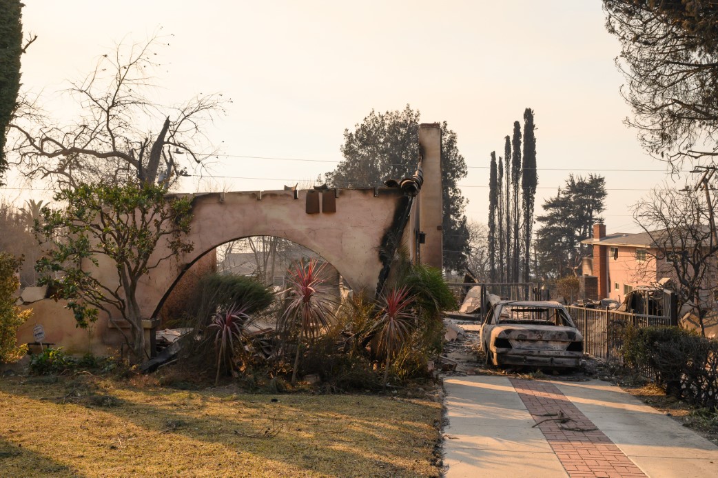
[[[638,273],[650,277],[668,277],[674,283],[679,307],[690,305],[705,335],[704,318],[714,302],[718,243],[709,226],[709,218],[718,203],[694,190],[653,190],[648,198],[634,206],[636,224],[650,237],[651,247]],[[658,278],[658,277],[656,277]]]

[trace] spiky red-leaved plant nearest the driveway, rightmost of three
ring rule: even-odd
[[[409,295],[408,288],[392,288],[381,296],[382,311],[378,317],[379,353],[386,359],[384,368],[384,387],[388,380],[391,359],[396,356],[411,333],[416,323],[411,314],[414,296]]]

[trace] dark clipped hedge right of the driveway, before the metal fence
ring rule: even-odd
[[[653,372],[666,393],[704,408],[718,405],[718,341],[679,327],[625,328],[628,367]]]

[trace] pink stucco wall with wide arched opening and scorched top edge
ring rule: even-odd
[[[143,277],[138,300],[143,316],[151,317],[175,280],[202,254],[220,244],[246,236],[277,236],[320,254],[355,290],[373,292],[381,261],[381,241],[406,203],[401,190],[341,189],[335,213],[306,213],[307,194],[317,192],[262,191],[205,193],[192,200],[195,244],[189,254],[162,262]],[[335,194],[334,190],[323,194]],[[261,199],[260,199],[261,197]],[[410,229],[409,229],[410,230]],[[405,231],[407,234],[407,231]],[[166,254],[158,249],[156,254]]]

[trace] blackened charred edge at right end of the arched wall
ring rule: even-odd
[[[381,247],[379,249],[379,260],[381,261],[382,267],[379,271],[378,282],[376,283],[376,298],[381,297],[386,287],[386,280],[391,272],[391,260],[396,254],[399,244],[401,244],[401,237],[404,236],[404,229],[406,224],[409,224],[411,218],[411,208],[414,206],[414,200],[421,190],[421,185],[424,184],[424,173],[421,171],[421,163],[416,171],[409,178],[402,180],[387,180],[386,184],[389,188],[400,188],[404,191],[404,200],[396,208],[394,219],[391,226],[388,227],[381,239]]]

